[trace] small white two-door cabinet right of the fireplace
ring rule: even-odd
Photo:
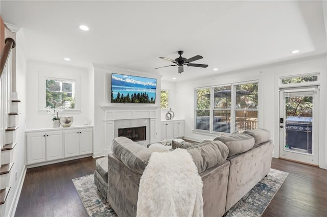
[[[184,120],[161,121],[161,140],[184,137]]]

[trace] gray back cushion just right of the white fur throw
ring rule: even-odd
[[[199,173],[221,164],[228,156],[227,146],[220,141],[199,143],[186,150],[192,155]]]

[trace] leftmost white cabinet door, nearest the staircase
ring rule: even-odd
[[[27,164],[44,162],[45,157],[45,132],[27,133],[26,138]]]

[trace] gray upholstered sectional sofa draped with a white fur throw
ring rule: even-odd
[[[203,181],[204,216],[222,216],[270,170],[273,144],[264,129],[186,146]],[[152,151],[124,137],[113,140],[112,151],[97,160],[95,183],[118,216],[136,216],[139,181]]]

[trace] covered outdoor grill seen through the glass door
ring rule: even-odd
[[[286,118],[286,145],[312,154],[312,117]]]

